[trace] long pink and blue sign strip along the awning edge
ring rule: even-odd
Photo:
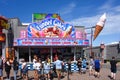
[[[14,46],[88,46],[89,40],[75,38],[20,38],[14,40]]]

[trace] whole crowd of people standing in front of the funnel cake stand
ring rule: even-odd
[[[68,61],[68,73],[71,73],[71,61]],[[65,65],[65,62],[60,60],[58,56],[54,58],[54,61],[51,64],[50,57],[48,56],[44,63],[42,63],[41,59],[34,55],[33,59],[33,71],[34,71],[34,80],[53,80],[53,74],[55,73],[57,75],[58,80],[61,80],[62,76],[62,70],[64,69],[63,66]],[[115,57],[112,57],[112,60],[110,61],[110,78],[115,80],[116,79],[116,72],[117,72],[117,61],[115,60]],[[7,58],[5,62],[3,62],[1,56],[0,56],[0,80],[3,80],[3,66],[5,66],[5,72],[6,72],[6,79],[10,79],[10,72],[11,68],[14,70],[14,80],[17,80],[17,73],[19,70],[19,62],[17,61],[17,57],[14,57],[13,62],[10,62],[10,59]],[[51,69],[51,66],[53,66],[53,69]],[[77,60],[77,66],[79,68],[78,73],[79,74],[85,74],[86,70],[89,70],[89,76],[95,76],[96,78],[100,77],[100,70],[102,67],[102,61],[99,58],[93,59],[90,57],[90,60],[86,60],[85,58],[79,58]],[[28,80],[28,66],[27,62],[22,60],[22,66],[21,66],[21,77],[23,80]]]

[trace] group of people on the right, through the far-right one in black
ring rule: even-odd
[[[93,57],[90,57],[90,60],[88,62],[89,64],[89,76],[95,76],[95,78],[99,78],[100,77],[100,70],[102,68],[102,60],[100,60],[99,58],[95,58],[93,59]],[[85,59],[79,59],[77,62],[77,65],[79,67],[79,73],[85,73],[86,69],[87,69],[87,61]],[[112,57],[112,60],[110,60],[110,71],[111,74],[110,79],[115,80],[116,79],[116,72],[117,72],[117,60],[115,60],[115,57]]]

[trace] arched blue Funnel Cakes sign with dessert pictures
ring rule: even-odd
[[[55,18],[46,18],[41,22],[31,23],[27,30],[28,38],[75,38],[75,28]]]

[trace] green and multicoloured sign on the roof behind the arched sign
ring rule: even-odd
[[[39,22],[45,18],[57,18],[61,20],[60,16],[58,14],[45,14],[45,13],[34,13],[32,15],[32,21],[33,22]]]

